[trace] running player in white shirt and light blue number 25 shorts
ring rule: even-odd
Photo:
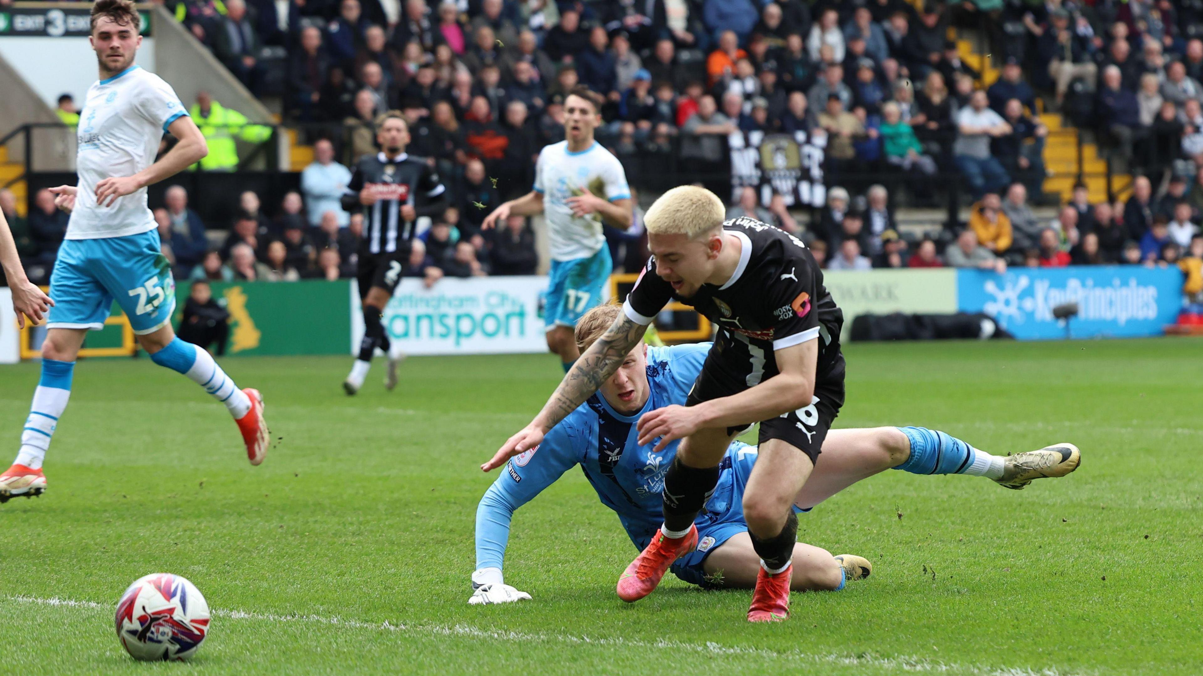
[[[77,132],[79,185],[51,189],[71,220],[51,274],[54,307],[42,344],[41,381],[17,461],[0,474],[0,500],[46,491],[42,461],[71,396],[76,355],[88,330],[105,326],[114,300],[154,363],[183,373],[225,404],[238,422],[250,463],[263,462],[267,453],[259,392],[239,390],[207,351],[184,343],[171,328],[176,283],[160,253],[146,186],[196,162],[208,149],[171,85],[134,65],[142,45],[140,26],[129,0],[93,5],[90,41],[100,81],[88,89]],[[179,143],[155,162],[165,131]]]

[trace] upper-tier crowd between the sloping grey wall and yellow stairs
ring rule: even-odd
[[[1047,130],[1019,57],[983,114],[940,2],[178,1],[231,72],[280,96],[290,120],[326,125],[344,161],[371,149],[375,114],[402,109],[415,154],[456,180],[472,158],[504,168],[515,180],[502,197],[562,138],[579,83],[604,95],[599,136],[620,155],[685,136],[682,156],[713,162],[734,131],[804,131],[828,136],[828,171],[848,185],[865,171],[964,171],[980,197],[1013,179],[1038,195],[1044,178]],[[288,55],[256,60],[262,46]]]

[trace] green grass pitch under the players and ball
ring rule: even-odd
[[[800,520],[873,576],[743,619],[749,594],[671,577],[614,586],[635,551],[579,472],[518,511],[506,581],[469,606],[478,464],[525,425],[555,357],[378,363],[225,358],[273,437],[244,459],[223,407],[149,360],[91,360],[47,462],[0,506],[0,674],[1198,674],[1203,668],[1203,342],[849,345],[838,427],[924,425],[994,452],[1083,450],[1007,491],[889,472]],[[0,368],[14,452],[38,367]],[[4,458],[7,462],[7,457]],[[134,663],[113,606],[136,577],[192,580],[215,609],[189,664]]]

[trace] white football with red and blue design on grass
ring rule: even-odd
[[[179,575],[147,575],[117,604],[117,638],[134,659],[188,659],[209,633],[209,604]]]

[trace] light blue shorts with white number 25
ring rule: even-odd
[[[51,298],[49,328],[103,328],[115,300],[134,333],[159,330],[176,310],[176,280],[159,231],[65,239],[51,273]]]

